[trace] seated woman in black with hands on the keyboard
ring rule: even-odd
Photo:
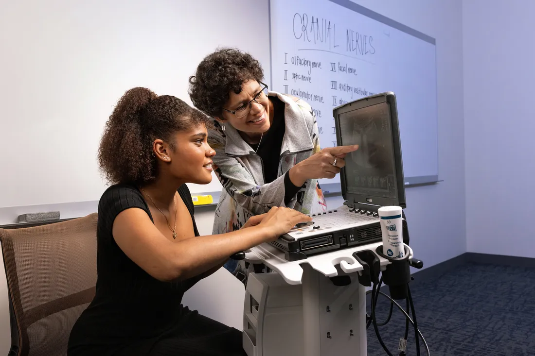
[[[286,207],[239,230],[199,236],[186,183],[212,179],[210,121],[173,96],[128,90],[105,126],[98,161],[112,185],[98,204],[96,295],[69,356],[244,355],[241,331],[190,311],[184,292],[238,251],[310,218]]]

